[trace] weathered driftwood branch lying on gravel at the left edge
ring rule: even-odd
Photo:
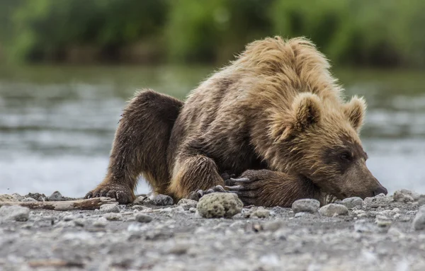
[[[68,200],[62,202],[0,202],[0,207],[18,205],[30,209],[70,211],[98,209],[103,204],[118,204],[118,202],[115,199],[111,199],[111,197],[94,197],[87,200]]]

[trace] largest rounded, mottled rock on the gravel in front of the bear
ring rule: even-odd
[[[201,217],[231,218],[242,211],[244,204],[234,193],[213,192],[200,198],[197,209]]]

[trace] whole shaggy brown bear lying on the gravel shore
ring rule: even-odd
[[[139,175],[175,200],[206,190],[288,207],[307,197],[386,194],[358,137],[365,102],[341,96],[310,41],[252,42],[185,103],[137,93],[120,120],[106,178],[86,197],[132,202]]]

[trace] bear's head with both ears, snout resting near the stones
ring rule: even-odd
[[[271,127],[280,149],[280,159],[273,159],[276,168],[300,174],[339,199],[386,195],[366,166],[368,155],[358,137],[365,109],[363,98],[341,104],[313,93],[298,94],[290,111]]]

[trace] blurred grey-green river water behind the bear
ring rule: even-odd
[[[184,98],[211,67],[0,67],[0,193],[81,197],[106,173],[121,110],[140,88]],[[390,192],[425,193],[425,78],[336,71],[365,96],[368,167]],[[148,192],[140,181],[137,192]]]

